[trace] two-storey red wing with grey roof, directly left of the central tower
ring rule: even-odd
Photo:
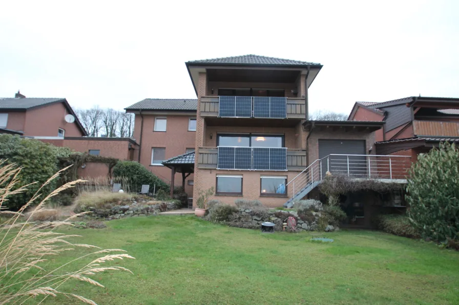
[[[196,99],[144,99],[126,108],[126,112],[135,114],[134,138],[139,149],[134,160],[165,182],[184,184],[189,197],[193,194],[192,173],[182,174],[178,165],[174,166],[177,171],[171,171],[171,165],[162,162],[194,152],[196,107]]]

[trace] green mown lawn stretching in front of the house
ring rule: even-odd
[[[382,232],[263,234],[196,217],[139,217],[68,229],[79,243],[121,248],[126,272],[107,288],[62,287],[101,304],[459,304],[459,252]],[[311,236],[335,239],[311,243]],[[55,265],[83,253],[67,253]],[[48,266],[51,268],[53,266]],[[74,304],[73,299],[49,299]]]

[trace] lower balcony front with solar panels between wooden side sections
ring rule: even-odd
[[[302,171],[306,152],[287,148],[199,148],[198,168],[254,171]]]

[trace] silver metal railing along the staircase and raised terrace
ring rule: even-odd
[[[295,196],[307,188],[314,188],[328,173],[345,175],[352,179],[406,179],[411,166],[410,158],[391,155],[331,154],[312,162],[286,185],[293,188],[295,200]]]

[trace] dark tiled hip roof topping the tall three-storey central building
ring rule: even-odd
[[[243,65],[320,65],[320,63],[266,57],[260,55],[242,55],[232,57],[221,57],[212,59],[192,60],[188,63],[210,63],[210,64],[243,64]]]

